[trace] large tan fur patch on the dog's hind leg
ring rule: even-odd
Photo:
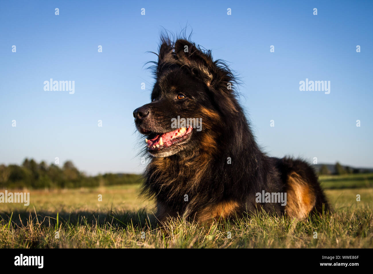
[[[299,219],[307,218],[316,203],[316,196],[313,190],[295,172],[289,175],[287,186],[286,214]]]

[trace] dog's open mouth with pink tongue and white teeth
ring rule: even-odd
[[[157,151],[159,149],[167,148],[176,143],[184,141],[186,138],[189,137],[192,130],[192,127],[188,127],[188,129],[186,129],[186,127],[181,127],[174,131],[156,134],[152,139],[145,139],[145,142],[147,144],[148,150]]]

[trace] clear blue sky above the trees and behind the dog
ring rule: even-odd
[[[142,171],[132,111],[149,102],[154,83],[143,65],[156,56],[146,51],[157,50],[163,27],[179,32],[188,25],[192,40],[241,76],[241,104],[269,155],[372,167],[372,7],[372,1],[1,1],[0,163],[59,157],[88,174]],[[50,78],[75,81],[75,94],[44,91]],[[300,91],[306,78],[330,81],[330,94]]]

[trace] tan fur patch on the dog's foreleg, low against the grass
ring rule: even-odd
[[[238,203],[235,201],[220,202],[218,204],[210,205],[198,211],[196,219],[199,223],[206,223],[219,219],[226,219],[229,216],[234,216]]]

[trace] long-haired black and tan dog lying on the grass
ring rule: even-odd
[[[151,103],[133,113],[151,157],[142,193],[155,197],[156,217],[209,222],[264,210],[302,219],[327,210],[307,163],[260,151],[229,67],[185,39],[161,40]]]

